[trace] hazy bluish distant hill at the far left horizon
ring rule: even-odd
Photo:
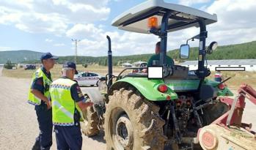
[[[22,61],[39,60],[42,53],[32,50],[0,51],[0,64],[5,64],[8,59],[13,63]]]

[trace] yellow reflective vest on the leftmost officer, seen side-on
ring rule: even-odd
[[[51,78],[47,78],[47,76],[45,75],[45,73],[43,72],[43,70],[41,68],[39,68],[36,72],[34,72],[33,76],[32,76],[32,83],[36,78],[43,78],[43,86],[45,91],[43,92],[43,95],[45,97],[48,97],[48,100],[50,99],[50,93],[49,93],[49,86],[52,83]],[[32,85],[31,83],[31,85]],[[29,104],[32,105],[40,105],[41,104],[41,100],[40,98],[34,96],[34,94],[32,94],[31,90],[29,89],[29,97],[28,97],[28,102]]]

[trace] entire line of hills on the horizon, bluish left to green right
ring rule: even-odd
[[[151,50],[153,51],[153,50]],[[106,52],[107,53],[107,52]],[[113,51],[114,53],[114,51]],[[40,62],[40,56],[42,53],[34,52],[30,50],[16,50],[16,51],[0,51],[0,64],[4,64],[7,59],[12,62],[24,62],[24,63],[36,63]],[[152,56],[152,53],[132,55],[132,56],[114,56],[113,64],[120,65],[125,62],[134,61],[147,61]],[[169,50],[167,55],[177,61],[180,60],[179,50]],[[26,58],[26,59],[25,59]],[[188,60],[197,60],[198,48],[191,48]],[[213,51],[211,55],[207,55],[208,60],[222,60],[222,59],[256,59],[256,41],[245,42],[237,45],[225,45],[219,46],[216,51]],[[60,56],[58,63],[62,64],[64,61],[73,61],[74,56]],[[92,57],[92,56],[78,56],[78,64],[107,64],[107,56]]]

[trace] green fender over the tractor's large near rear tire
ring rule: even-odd
[[[158,86],[163,84],[163,80],[148,80],[147,78],[122,78],[117,80],[109,89],[108,94],[113,94],[114,90],[132,87],[137,89],[147,100],[150,101],[163,101],[170,97],[170,100],[178,99],[178,95],[168,89],[167,92],[161,93],[158,91]]]

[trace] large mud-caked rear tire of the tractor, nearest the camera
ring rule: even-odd
[[[139,91],[115,90],[104,114],[107,150],[162,150],[167,137],[159,108]]]

